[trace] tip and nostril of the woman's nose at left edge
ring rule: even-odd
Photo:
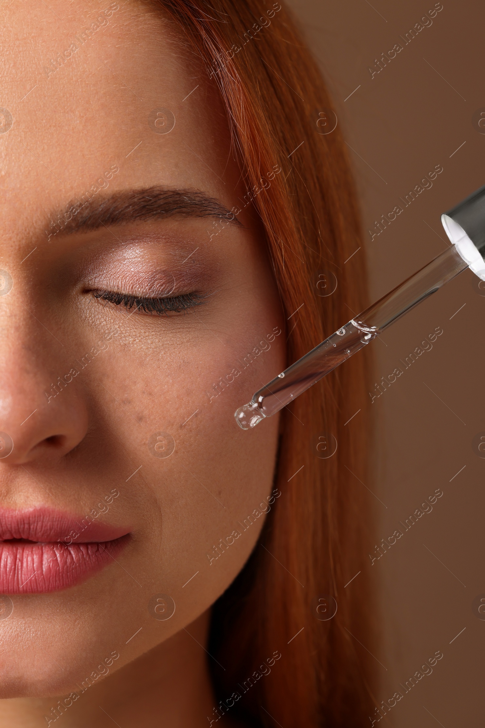
[[[52,346],[60,348],[55,342]],[[11,346],[1,357],[0,470],[35,461],[54,464],[86,435],[81,367],[63,364],[68,356],[50,347]],[[61,375],[57,368],[71,371]]]

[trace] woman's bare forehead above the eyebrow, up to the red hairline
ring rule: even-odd
[[[222,105],[158,9],[14,0],[1,10],[0,44],[4,225],[18,227],[21,213],[35,227],[113,166],[113,190],[167,184],[225,197]]]

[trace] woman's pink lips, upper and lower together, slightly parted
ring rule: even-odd
[[[128,528],[50,508],[0,509],[0,593],[66,589],[113,563]]]

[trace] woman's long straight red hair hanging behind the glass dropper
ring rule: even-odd
[[[300,309],[288,332],[292,363],[366,307],[362,258],[345,262],[361,245],[361,229],[340,127],[321,134],[317,125],[332,103],[294,18],[279,3],[161,4],[219,87],[248,189],[275,165],[282,169],[254,206],[286,317]],[[338,282],[331,296],[318,295],[322,269]],[[213,609],[209,652],[225,665],[222,675],[213,673],[220,714],[231,710],[251,725],[350,728],[373,711],[373,668],[361,646],[373,651],[365,375],[358,355],[282,412],[275,474],[281,497],[244,570]],[[318,438],[329,435],[337,451],[321,459]],[[325,596],[334,598],[337,614],[320,620],[318,598]],[[281,658],[258,678],[275,652]]]

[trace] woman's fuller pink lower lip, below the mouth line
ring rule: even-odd
[[[44,594],[81,584],[113,563],[129,534],[103,543],[0,542],[0,593]]]

